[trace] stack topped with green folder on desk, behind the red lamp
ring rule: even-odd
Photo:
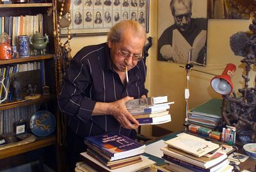
[[[189,124],[214,130],[221,121],[221,104],[221,99],[212,98],[204,104],[194,107],[188,113]]]

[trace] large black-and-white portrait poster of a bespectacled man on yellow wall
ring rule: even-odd
[[[206,64],[207,1],[158,1],[157,59]]]

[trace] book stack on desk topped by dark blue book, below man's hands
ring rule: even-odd
[[[84,139],[84,143],[88,149],[81,153],[81,157],[98,171],[123,168],[143,161],[140,154],[144,153],[145,145],[120,134],[90,136]]]

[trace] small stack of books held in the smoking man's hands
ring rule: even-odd
[[[125,106],[140,125],[154,125],[172,121],[169,113],[170,104],[168,97],[137,98],[126,102]]]

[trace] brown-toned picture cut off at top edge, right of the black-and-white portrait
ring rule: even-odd
[[[209,19],[250,19],[249,13],[240,12],[241,9],[246,9],[250,2],[246,1],[235,4],[230,0],[208,0],[208,16]]]

